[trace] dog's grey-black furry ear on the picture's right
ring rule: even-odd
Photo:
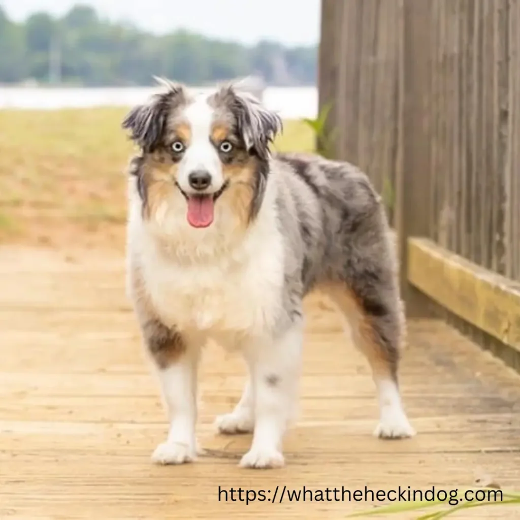
[[[248,151],[254,151],[259,158],[269,158],[269,144],[282,131],[280,116],[267,110],[249,92],[233,85],[223,87],[220,95],[237,121],[237,131]]]

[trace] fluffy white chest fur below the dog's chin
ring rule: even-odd
[[[229,254],[194,255],[191,261],[176,257],[175,243],[170,252],[162,251],[142,223],[131,227],[130,253],[165,324],[228,344],[240,337],[265,336],[274,328],[282,312],[284,276],[276,226],[260,224]],[[185,254],[186,242],[183,245]]]

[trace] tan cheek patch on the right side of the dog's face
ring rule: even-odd
[[[254,159],[245,164],[223,164],[222,173],[229,188],[223,194],[223,203],[229,204],[239,223],[244,228],[249,224],[251,205],[255,195]],[[217,202],[218,204],[218,202]]]

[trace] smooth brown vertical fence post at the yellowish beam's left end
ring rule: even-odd
[[[430,168],[427,161],[426,115],[431,50],[430,0],[399,0],[398,142],[396,157],[395,228],[400,259],[400,289],[408,317],[428,316],[427,298],[408,282],[408,238],[428,236]]]

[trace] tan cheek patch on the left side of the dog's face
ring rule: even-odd
[[[143,216],[155,218],[162,203],[177,192],[174,180],[177,176],[177,165],[166,154],[157,152],[150,155],[141,169],[141,186],[145,193]]]

